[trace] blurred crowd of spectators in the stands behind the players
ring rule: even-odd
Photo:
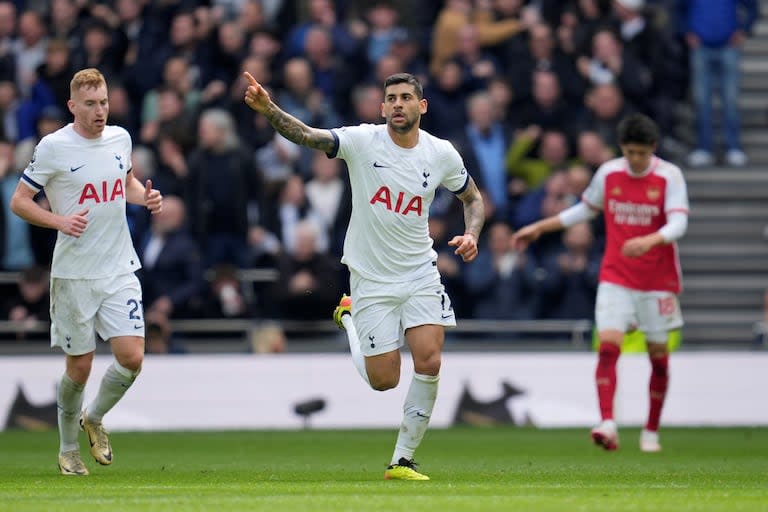
[[[660,124],[662,156],[684,156],[674,113],[688,97],[689,52],[673,3],[0,0],[0,267],[50,263],[54,237],[10,214],[8,198],[40,137],[69,122],[74,71],[97,67],[111,123],[133,138],[133,172],[165,196],[154,218],[128,209],[155,331],[169,318],[330,318],[347,282],[346,169],[245,106],[242,72],[290,114],[331,128],[381,122],[383,79],[407,71],[425,86],[423,128],[456,145],[487,203],[480,261],[466,266],[446,245],[458,202],[433,204],[457,314],[589,318],[600,223],[525,253],[510,236],[578,200],[618,154],[627,113]],[[238,269],[258,267],[276,281],[244,291],[253,284]]]

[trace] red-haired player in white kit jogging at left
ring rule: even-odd
[[[141,286],[134,274],[141,265],[125,204],[145,205],[157,213],[162,196],[151,181],[145,186],[133,177],[131,137],[123,128],[107,125],[107,84],[98,70],[75,74],[67,104],[74,121],[37,145],[11,209],[30,224],[58,231],[51,264],[51,346],[66,354],[57,391],[59,470],[87,475],[78,429],[88,435],[96,461],[111,464],[102,417],[131,387],[144,359]],[[34,201],[42,190],[51,211]],[[109,341],[114,360],[98,394],[83,410],[96,334]]]

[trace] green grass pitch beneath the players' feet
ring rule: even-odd
[[[768,429],[672,429],[641,453],[588,430],[427,433],[429,482],[384,481],[395,432],[115,433],[115,462],[57,473],[55,432],[0,433],[2,511],[768,511]],[[84,445],[85,441],[82,439]]]

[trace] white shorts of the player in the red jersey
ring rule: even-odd
[[[672,292],[645,292],[613,283],[600,283],[596,302],[598,332],[638,329],[645,334],[646,340],[664,343],[669,331],[683,325],[680,302]]]

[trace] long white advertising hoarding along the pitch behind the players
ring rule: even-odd
[[[110,361],[96,357],[86,404]],[[591,426],[599,419],[595,362],[592,353],[444,354],[431,424]],[[50,420],[63,368],[61,355],[0,358],[0,428],[34,426],[38,413],[41,422]],[[149,355],[105,424],[110,430],[301,428],[295,405],[322,399],[325,408],[311,417],[314,428],[394,428],[411,372],[404,353],[400,385],[378,392],[346,354]],[[623,356],[618,375],[617,421],[641,425],[648,412],[647,357]],[[675,353],[670,376],[664,425],[768,425],[767,353]]]

